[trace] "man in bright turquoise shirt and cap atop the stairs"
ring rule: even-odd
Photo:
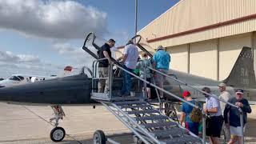
[[[153,60],[155,63],[155,69],[162,72],[163,74],[168,74],[169,66],[170,66],[170,54],[168,54],[162,46],[158,46],[157,52],[153,56]],[[155,74],[155,82],[156,85],[163,89],[163,82],[165,81],[165,76],[159,74],[158,72]],[[162,90],[159,90],[160,98],[163,98]]]

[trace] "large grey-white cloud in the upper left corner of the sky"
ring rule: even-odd
[[[0,0],[0,28],[42,38],[106,33],[106,13],[74,1]]]

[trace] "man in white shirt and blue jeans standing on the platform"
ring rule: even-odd
[[[120,59],[122,59],[124,68],[130,73],[133,73],[138,61],[138,48],[134,45],[132,40],[126,43],[122,58]],[[122,96],[130,95],[130,78],[131,75],[123,71]]]

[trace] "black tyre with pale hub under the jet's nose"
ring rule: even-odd
[[[54,127],[50,131],[50,139],[54,142],[61,142],[65,138],[66,132],[62,127]]]

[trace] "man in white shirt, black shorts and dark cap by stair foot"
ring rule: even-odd
[[[210,143],[216,144],[219,142],[222,131],[222,109],[218,99],[214,98],[217,96],[210,93],[209,87],[202,88],[202,91],[207,93],[204,94],[206,97],[206,106],[203,109],[208,115],[206,118],[206,135],[209,136]]]

